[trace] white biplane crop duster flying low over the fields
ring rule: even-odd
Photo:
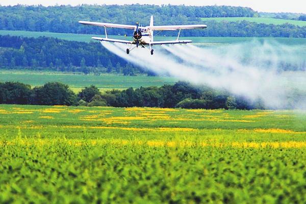
[[[84,25],[95,25],[99,27],[104,27],[105,29],[105,38],[100,37],[92,37],[94,40],[99,41],[108,41],[108,42],[119,42],[124,44],[131,44],[130,48],[126,49],[126,54],[129,54],[135,47],[139,45],[141,47],[150,47],[151,55],[154,53],[154,49],[152,49],[152,45],[163,45],[163,44],[186,44],[191,43],[192,40],[179,40],[181,30],[183,29],[206,29],[207,25],[199,24],[199,25],[154,25],[153,16],[151,16],[150,25],[146,27],[139,26],[137,22],[136,25],[123,25],[123,24],[114,24],[114,23],[104,23],[104,22],[91,22],[91,21],[79,21],[79,23]],[[111,39],[108,38],[106,28],[121,28],[121,29],[133,29],[133,41],[128,40],[119,40],[119,39]],[[176,40],[171,41],[154,41],[154,31],[179,31],[179,35]],[[132,48],[132,45],[135,45]]]

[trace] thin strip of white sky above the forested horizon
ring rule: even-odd
[[[0,5],[79,5],[79,4],[172,4],[172,5],[196,5],[196,6],[211,6],[211,5],[226,5],[226,6],[243,6],[250,7],[255,11],[259,12],[290,12],[290,13],[306,13],[306,2],[304,0],[134,0],[134,1],[122,1],[122,0],[1,0]]]

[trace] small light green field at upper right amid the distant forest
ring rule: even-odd
[[[285,23],[298,25],[300,27],[306,26],[306,21],[302,20],[289,20],[289,19],[280,19],[280,18],[262,18],[262,17],[214,17],[214,18],[201,18],[203,21],[215,20],[218,22],[229,21],[229,22],[237,22],[242,20],[247,20],[250,22],[256,23],[265,23],[265,24],[275,24],[281,25]]]

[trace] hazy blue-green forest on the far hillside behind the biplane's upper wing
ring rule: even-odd
[[[306,27],[291,24],[273,25],[248,21],[216,22],[201,17],[258,17],[250,8],[230,6],[173,5],[82,5],[82,6],[0,6],[0,30],[22,30],[55,33],[101,34],[102,29],[84,26],[79,20],[104,21],[121,24],[147,25],[150,15],[155,24],[206,23],[208,29],[188,30],[182,36],[211,37],[306,37]],[[109,29],[111,35],[129,34],[124,29]],[[162,32],[173,36],[176,32]]]

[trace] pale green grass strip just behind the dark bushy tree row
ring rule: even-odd
[[[177,80],[170,77],[147,77],[146,75],[130,77],[122,74],[101,74],[96,76],[47,71],[0,70],[0,82],[7,81],[22,82],[31,86],[41,86],[47,82],[62,82],[78,92],[90,85],[95,85],[101,90],[127,89],[174,84]]]

